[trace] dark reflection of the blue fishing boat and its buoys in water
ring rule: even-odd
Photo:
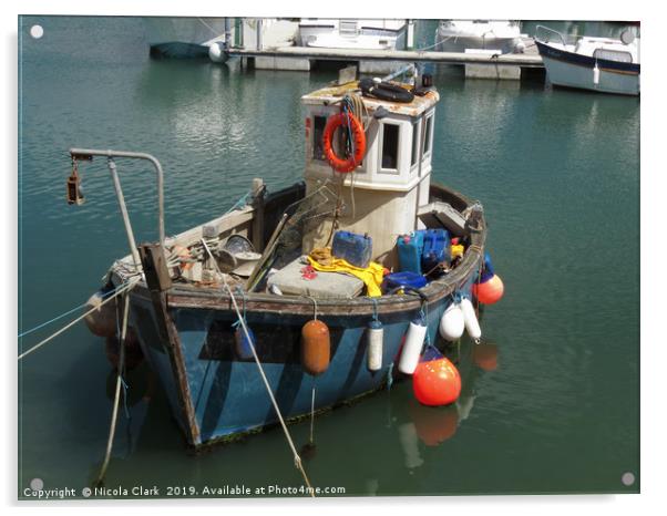
[[[429,463],[430,452],[427,450],[447,446],[461,432],[478,398],[478,375],[497,368],[497,345],[475,345],[464,339],[443,351],[461,374],[462,390],[459,400],[449,406],[421,405],[414,399],[411,380],[406,378],[394,382],[389,391],[380,391],[350,406],[317,416],[314,426],[317,453],[310,453],[310,450],[302,453],[304,464],[311,472],[314,482],[356,485],[362,491],[358,494],[378,494],[382,492],[383,485],[396,485],[392,481],[394,473],[381,467],[376,461],[362,457],[384,457],[391,464],[403,464],[408,473],[412,474],[411,472]],[[115,370],[110,370],[105,385],[110,405],[113,402],[115,378]],[[207,478],[232,464],[230,477],[234,482],[260,483],[263,474],[253,467],[259,457],[265,457],[273,464],[273,473],[266,473],[267,482],[271,474],[289,477],[295,473],[290,461],[286,460],[286,444],[279,429],[267,430],[239,442],[213,446],[203,454],[189,456],[176,423],[170,417],[164,393],[155,383],[147,364],[144,362],[129,371],[124,380],[126,398],[121,399],[107,485],[135,481],[170,485],[168,473],[154,471],[146,478],[145,472],[138,473],[134,467],[135,464],[154,461],[157,455],[165,454],[178,471],[179,482],[193,485],[206,483]],[[343,438],[341,429],[349,427],[363,429],[362,432],[374,430],[371,433],[353,433]],[[310,422],[306,420],[289,429],[297,447],[306,443],[305,447],[308,448]],[[341,440],[345,441],[342,453]],[[102,452],[101,450],[100,453]],[[329,467],[331,464],[337,467]],[[99,464],[92,465],[93,471],[89,475],[91,478],[94,478],[98,467]],[[350,474],[350,471],[355,473]],[[359,482],[355,482],[355,475],[359,476]]]

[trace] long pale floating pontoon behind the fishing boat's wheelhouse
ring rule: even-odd
[[[279,47],[260,50],[232,48],[230,56],[261,70],[309,71],[320,61],[356,63],[360,73],[389,73],[406,62],[429,62],[465,66],[466,76],[520,79],[524,69],[544,69],[542,58],[527,40],[525,53],[500,54],[492,50],[438,52],[420,50],[363,50],[312,47]]]

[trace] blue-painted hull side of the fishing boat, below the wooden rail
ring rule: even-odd
[[[470,293],[471,276],[461,292]],[[428,307],[428,334],[438,338],[438,324],[451,298]],[[391,374],[412,319],[419,310],[382,317],[384,328],[382,369],[367,368],[366,329],[368,317],[320,317],[331,334],[331,362],[328,370],[314,378],[299,361],[300,331],[309,317],[252,313],[249,328],[256,336],[256,349],[267,379],[286,419],[310,413],[311,388],[316,386],[316,410],[350,401],[381,388]],[[192,421],[183,410],[179,393],[183,386],[174,374],[173,357],[160,342],[153,306],[146,297],[132,299],[132,326],[137,332],[142,351],[158,375],[167,393],[174,416],[192,434]],[[175,309],[171,312],[182,348],[187,382],[187,396],[194,411],[198,432],[188,438],[199,446],[260,430],[277,423],[266,389],[254,360],[243,361],[234,351],[235,317],[232,311]]]

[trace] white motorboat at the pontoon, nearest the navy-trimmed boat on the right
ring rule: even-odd
[[[519,22],[512,20],[441,20],[435,30],[434,47],[441,52],[483,49],[512,53],[524,50]]]

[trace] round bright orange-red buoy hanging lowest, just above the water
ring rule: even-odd
[[[420,362],[412,374],[417,400],[429,406],[449,405],[461,394],[461,375],[447,358]]]

